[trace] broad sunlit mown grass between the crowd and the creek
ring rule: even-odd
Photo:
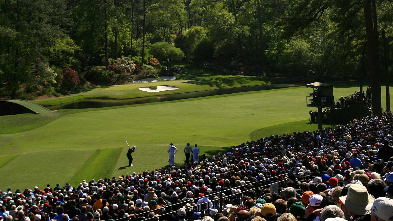
[[[334,88],[334,95],[337,99],[356,89],[340,85]],[[175,157],[180,164],[187,142],[198,144],[200,155],[211,156],[249,141],[250,136],[315,130],[315,124],[305,124],[311,110],[305,104],[305,95],[310,91],[304,86],[134,106],[60,110],[51,121],[28,121],[31,126],[24,129],[17,122],[31,115],[3,116],[0,125],[11,129],[3,130],[9,134],[0,135],[0,157],[10,160],[0,164],[0,189],[77,184],[83,179],[160,168],[168,165],[170,142],[180,151]],[[384,99],[382,102],[385,106]],[[133,167],[124,167],[128,164],[126,140],[138,147],[133,153]],[[19,155],[10,155],[15,153]]]

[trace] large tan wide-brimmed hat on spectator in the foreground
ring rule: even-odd
[[[360,184],[349,186],[348,194],[340,197],[343,204],[356,215],[371,214],[371,207],[375,198],[367,193],[367,189]]]

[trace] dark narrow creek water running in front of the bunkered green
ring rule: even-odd
[[[208,91],[195,91],[195,92],[188,92],[188,93],[176,93],[176,94],[140,97],[140,98],[132,98],[132,99],[83,99],[83,100],[75,100],[73,102],[69,102],[65,104],[46,106],[46,108],[50,110],[105,108],[105,107],[123,106],[123,105],[130,105],[130,104],[146,104],[146,103],[153,103],[153,102],[181,100],[181,99],[188,99],[188,98],[206,97],[206,96],[239,93],[239,92],[246,92],[246,91],[261,91],[261,90],[286,88],[286,87],[288,87],[288,85],[272,84],[272,85],[259,85],[259,86],[248,86],[248,87],[239,87],[239,88],[216,89],[216,90],[208,90]]]

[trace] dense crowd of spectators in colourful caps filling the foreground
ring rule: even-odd
[[[188,165],[77,186],[8,189],[0,192],[0,219],[388,221],[392,123],[387,113],[316,132],[264,137]],[[374,155],[385,163],[373,162]],[[276,184],[279,188],[269,188]]]

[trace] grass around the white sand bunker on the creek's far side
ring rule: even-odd
[[[266,84],[284,84],[285,79],[271,77],[256,77],[243,75],[216,75],[212,71],[185,65],[186,72],[176,75],[179,80],[160,80],[152,83],[123,84],[114,86],[94,86],[80,89],[79,93],[67,97],[52,98],[46,100],[35,100],[34,103],[42,106],[64,104],[75,100],[87,98],[111,98],[111,99],[129,99],[136,97],[147,97],[155,95],[186,93],[193,91],[205,91],[220,88],[235,88],[242,86],[255,86]],[[178,87],[177,90],[146,92],[138,88],[170,85]]]

